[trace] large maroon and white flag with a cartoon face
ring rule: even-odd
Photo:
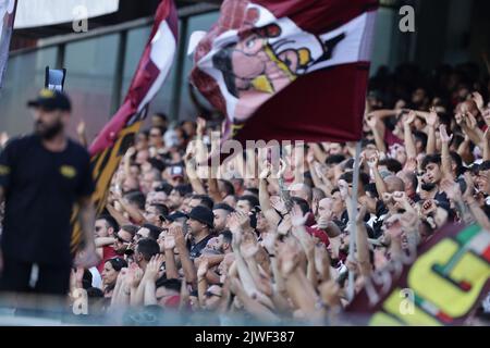
[[[224,0],[194,51],[194,86],[224,138],[362,137],[377,0]]]

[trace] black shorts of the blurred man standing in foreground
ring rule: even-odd
[[[35,284],[30,284],[33,263],[4,258],[3,271],[0,274],[0,291],[68,295],[70,290],[70,265],[38,264],[37,268]]]

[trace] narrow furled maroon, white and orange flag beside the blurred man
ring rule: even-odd
[[[93,200],[98,213],[105,209],[112,176],[133,144],[149,102],[169,75],[177,47],[177,29],[179,18],[173,0],[161,0],[127,96],[89,148],[96,182]],[[74,248],[78,246],[79,238],[79,228],[75,225],[72,238]]]

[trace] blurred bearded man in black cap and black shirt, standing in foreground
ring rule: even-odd
[[[65,295],[74,203],[85,237],[77,263],[89,268],[98,261],[90,158],[65,134],[71,103],[63,92],[42,89],[28,107],[34,134],[13,139],[0,153],[0,202],[5,200],[0,289]]]

